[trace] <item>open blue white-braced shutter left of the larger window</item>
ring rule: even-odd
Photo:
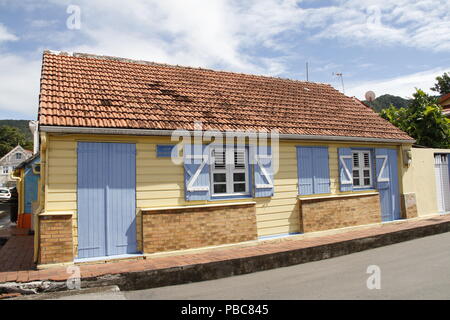
[[[186,201],[208,200],[209,181],[209,146],[185,145],[184,188]]]

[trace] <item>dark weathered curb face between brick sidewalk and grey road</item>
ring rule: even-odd
[[[106,274],[82,278],[81,287],[84,289],[116,285],[120,288],[120,290],[127,291],[214,280],[234,275],[248,274],[339,257],[449,231],[450,221],[444,221],[433,225],[414,227],[373,236],[337,241],[314,247],[292,249],[271,254],[262,254],[251,257],[199,263],[187,266],[169,267],[164,269]],[[66,289],[65,281],[45,281],[45,283],[45,288],[36,288],[36,291],[56,292]],[[17,285],[18,290],[22,286],[27,285],[27,283],[14,284]],[[13,285],[13,283],[9,283],[9,289],[11,289],[11,285]],[[14,292],[14,290],[11,290],[10,292]]]

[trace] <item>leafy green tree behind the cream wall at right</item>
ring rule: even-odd
[[[436,98],[420,89],[413,95],[409,108],[390,106],[380,115],[416,139],[416,143],[430,148],[450,148],[450,120],[442,113]]]

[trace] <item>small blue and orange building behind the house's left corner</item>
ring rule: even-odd
[[[17,227],[34,229],[33,209],[37,207],[38,185],[40,178],[39,153],[20,163],[14,170],[13,177],[18,178],[18,217]]]

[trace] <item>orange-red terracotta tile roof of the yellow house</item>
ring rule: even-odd
[[[327,84],[44,52],[45,126],[192,130],[412,140]]]

